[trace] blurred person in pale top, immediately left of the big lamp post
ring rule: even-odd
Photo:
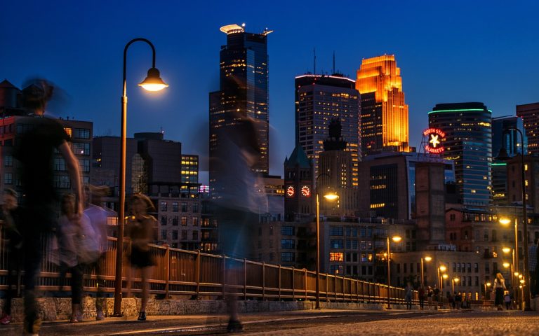
[[[95,235],[98,235],[99,241],[99,255],[98,258],[88,264],[88,273],[95,272],[97,277],[98,293],[95,297],[95,320],[102,321],[105,319],[103,313],[103,306],[105,304],[105,278],[102,274],[102,265],[104,265],[108,248],[107,237],[107,210],[100,207],[102,204],[102,197],[106,196],[109,188],[107,186],[87,186],[85,189],[86,208],[84,214],[90,218]]]

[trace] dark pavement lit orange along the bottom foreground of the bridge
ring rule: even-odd
[[[240,335],[539,335],[539,314],[521,311],[276,311],[242,316]],[[224,335],[227,316],[107,318],[44,323],[39,335]],[[0,335],[20,335],[22,325],[0,325]]]

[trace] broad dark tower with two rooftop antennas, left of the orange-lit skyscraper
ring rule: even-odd
[[[359,92],[344,76],[302,75],[295,78],[295,146],[302,146],[314,163],[313,179],[319,174],[319,153],[324,151],[328,125],[338,118],[345,151],[352,154],[352,186],[357,187],[359,149]]]

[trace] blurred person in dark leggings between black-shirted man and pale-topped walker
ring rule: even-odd
[[[58,252],[60,258],[60,288],[65,283],[65,275],[71,273],[71,323],[81,322],[81,301],[83,266],[79,264],[78,249],[80,226],[75,216],[75,196],[62,197],[61,214],[58,220]]]

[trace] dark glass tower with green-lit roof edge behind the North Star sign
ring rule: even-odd
[[[486,205],[491,201],[492,111],[483,103],[437,104],[429,127],[442,130],[443,157],[455,162],[458,202]]]

